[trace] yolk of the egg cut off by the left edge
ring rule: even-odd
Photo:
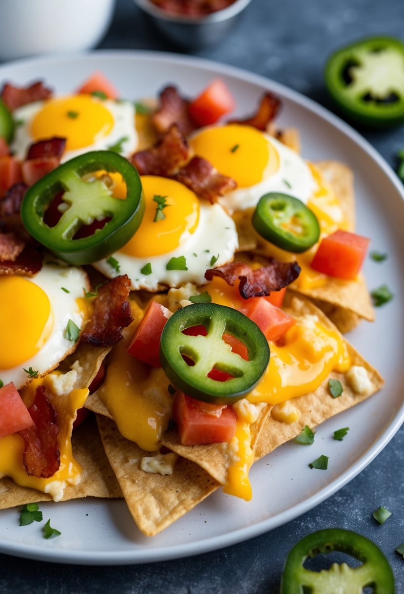
[[[28,361],[53,328],[50,301],[41,287],[21,276],[0,277],[0,369]]]

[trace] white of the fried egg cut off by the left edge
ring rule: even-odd
[[[24,371],[32,367],[39,376],[52,371],[56,365],[75,350],[76,344],[65,336],[66,326],[72,320],[76,326],[82,327],[84,314],[80,311],[76,299],[84,296],[83,287],[88,289],[89,283],[86,273],[81,268],[44,264],[40,272],[27,280],[41,287],[47,294],[53,315],[52,333],[44,346],[21,365],[0,369],[0,379],[4,384],[14,382],[19,390],[28,383],[27,373]],[[69,293],[62,290],[67,289]],[[35,311],[32,312],[34,316]],[[22,337],[23,338],[23,337]]]

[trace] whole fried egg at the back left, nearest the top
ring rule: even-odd
[[[62,162],[90,150],[115,150],[127,157],[136,150],[134,106],[81,94],[37,101],[13,113],[17,128],[11,148],[25,159],[31,144],[53,136],[66,138]]]

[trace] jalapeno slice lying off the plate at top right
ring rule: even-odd
[[[373,127],[404,121],[404,43],[393,37],[363,39],[335,52],[325,83],[345,115]]]

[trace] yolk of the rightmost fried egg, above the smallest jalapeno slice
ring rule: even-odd
[[[234,179],[239,188],[258,184],[279,168],[278,151],[251,126],[207,128],[190,139],[190,146],[220,173]]]

